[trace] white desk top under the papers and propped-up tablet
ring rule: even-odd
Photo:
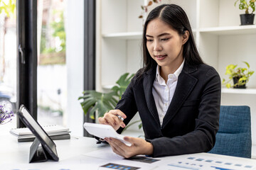
[[[106,162],[114,163],[117,162],[116,159],[111,160],[112,158],[109,157],[108,160],[102,157],[101,155],[97,155],[96,157],[92,156],[90,153],[93,151],[99,151],[102,149],[102,153],[105,154],[105,150],[109,148],[108,145],[97,145],[96,140],[94,138],[90,137],[71,137],[70,140],[55,140],[55,144],[57,145],[57,152],[58,157],[60,158],[59,162],[42,162],[42,163],[33,163],[28,164],[28,154],[29,154],[29,148],[31,146],[32,142],[17,142],[16,137],[9,134],[9,132],[3,132],[3,130],[0,127],[0,169],[61,169],[61,168],[67,168],[69,169],[99,169],[100,165],[105,164]],[[87,156],[84,155],[87,153]],[[90,157],[88,156],[90,154]],[[102,154],[102,155],[103,155]],[[112,153],[112,156],[114,153]],[[131,162],[127,160],[122,159],[122,163],[128,164],[130,166],[139,166],[142,167],[143,164],[146,164],[146,168],[144,169],[185,169],[178,166],[172,166],[174,165],[174,162],[181,162],[185,158],[188,160],[188,157],[196,157],[197,158],[203,158],[205,159],[212,159],[215,163],[215,166],[222,166],[225,162],[231,162],[234,164],[242,164],[242,166],[232,166],[236,169],[247,169],[252,170],[256,169],[256,160],[255,159],[243,159],[238,157],[228,157],[223,155],[217,155],[217,154],[207,154],[207,153],[199,153],[199,154],[189,154],[189,155],[181,155],[176,157],[162,157],[162,158],[156,158],[161,159],[159,162],[154,162],[152,164],[146,164],[142,162]],[[99,165],[96,165],[95,162],[99,162]],[[191,160],[188,160],[191,161]],[[223,162],[223,163],[220,163]],[[183,167],[183,164],[185,162],[181,163],[181,166]],[[189,162],[188,162],[189,163]],[[191,163],[191,162],[190,162]],[[196,162],[198,163],[198,162]],[[11,164],[14,164],[16,166],[13,166]],[[119,163],[121,164],[121,163]],[[169,166],[167,166],[169,164]],[[178,164],[178,163],[177,163]],[[166,166],[164,166],[166,165]],[[245,168],[245,165],[252,166]],[[17,167],[18,166],[18,167]],[[196,166],[196,165],[195,165]],[[50,168],[49,168],[50,167]],[[205,166],[206,167],[206,166]],[[207,166],[208,167],[208,166]],[[230,166],[231,167],[231,166]],[[100,168],[100,169],[106,169],[106,168]],[[143,168],[142,168],[143,169]],[[207,168],[208,169],[208,168]],[[210,169],[217,169],[217,168],[210,168]],[[106,169],[107,170],[107,169]],[[109,169],[111,170],[111,169]],[[139,169],[141,170],[141,169]],[[186,170],[189,170],[186,168]],[[196,170],[194,168],[194,170]],[[206,170],[206,169],[203,169]]]

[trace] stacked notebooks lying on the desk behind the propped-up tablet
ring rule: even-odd
[[[70,130],[60,125],[45,125],[43,130],[52,140],[69,140]],[[17,137],[18,142],[33,142],[35,135],[28,128],[13,128],[10,133]]]

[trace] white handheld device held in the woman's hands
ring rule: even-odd
[[[90,135],[94,135],[96,137],[100,137],[104,139],[105,137],[113,137],[117,140],[120,140],[127,146],[131,146],[130,142],[124,140],[124,136],[118,134],[111,125],[101,125],[96,123],[85,123],[85,130],[90,133]]]

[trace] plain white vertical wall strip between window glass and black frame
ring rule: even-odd
[[[64,124],[72,135],[83,135],[83,112],[78,101],[83,90],[84,1],[67,1],[66,64],[68,73],[67,114]]]

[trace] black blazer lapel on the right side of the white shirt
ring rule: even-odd
[[[167,125],[172,118],[174,118],[174,115],[178,113],[178,110],[181,108],[184,101],[196,85],[198,79],[189,74],[195,71],[196,67],[189,68],[186,63],[184,64],[183,71],[178,76],[174,97],[172,98],[170,106],[166,112],[166,115],[164,116],[162,128],[164,128],[164,126]]]

